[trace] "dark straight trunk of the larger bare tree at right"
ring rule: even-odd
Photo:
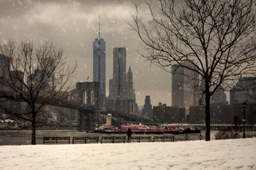
[[[207,85],[206,85],[206,141],[211,141],[210,92]]]

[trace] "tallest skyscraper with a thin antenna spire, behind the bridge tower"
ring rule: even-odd
[[[105,99],[105,84],[106,84],[106,56],[105,56],[105,41],[99,37],[94,41],[94,60],[93,60],[93,81],[99,82],[99,105],[102,107]]]

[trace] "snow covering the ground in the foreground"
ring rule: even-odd
[[[256,138],[0,146],[0,169],[256,169]]]

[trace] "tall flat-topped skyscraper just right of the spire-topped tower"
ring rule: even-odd
[[[126,48],[113,48],[113,98],[127,98]]]

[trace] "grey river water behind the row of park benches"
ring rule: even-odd
[[[205,140],[205,131],[201,131],[203,139]],[[215,139],[215,134],[218,131],[211,131],[211,140]],[[256,131],[246,131],[246,133],[256,134]],[[97,134],[97,133],[86,133],[85,131],[76,130],[37,130],[37,144],[42,144],[42,138],[44,136],[70,136],[71,142],[72,137],[82,136],[126,136],[126,134]],[[172,134],[133,134],[132,136],[172,136]],[[175,141],[185,141],[186,134],[175,135]],[[199,140],[200,134],[188,134],[189,140]],[[31,144],[31,131],[30,130],[0,130],[0,145],[23,145]]]

